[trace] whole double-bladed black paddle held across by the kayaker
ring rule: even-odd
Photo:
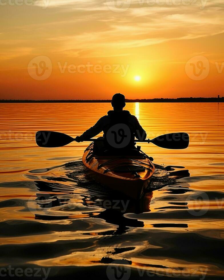
[[[39,147],[56,148],[65,146],[75,141],[71,136],[56,131],[37,131],[36,143]],[[102,141],[102,139],[86,139],[85,141]],[[168,133],[160,135],[152,140],[138,140],[135,142],[147,142],[165,149],[186,149],[189,145],[189,135],[186,132]]]

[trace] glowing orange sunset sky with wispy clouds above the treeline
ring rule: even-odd
[[[219,0],[16,1],[1,0],[0,99],[223,96]]]

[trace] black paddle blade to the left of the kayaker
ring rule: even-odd
[[[62,147],[72,141],[74,141],[74,139],[71,136],[61,132],[41,130],[36,133],[36,143],[39,147]]]

